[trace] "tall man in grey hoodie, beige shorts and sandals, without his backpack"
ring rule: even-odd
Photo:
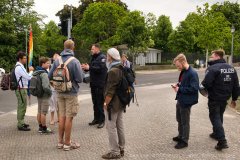
[[[53,72],[59,66],[60,60],[63,63],[68,61],[69,58],[74,57],[74,42],[72,40],[66,40],[64,42],[64,50],[54,63],[49,72],[49,79],[53,79]],[[71,141],[72,121],[78,113],[78,91],[79,83],[83,79],[83,71],[81,64],[78,59],[73,58],[67,65],[70,73],[70,80],[72,82],[72,89],[69,92],[58,93],[57,102],[59,107],[59,125],[58,125],[58,149],[69,151],[70,149],[77,149],[80,145],[76,142]],[[64,139],[65,136],[65,139]]]

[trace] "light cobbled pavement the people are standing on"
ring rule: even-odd
[[[192,107],[188,148],[176,150],[172,137],[177,135],[175,94],[170,84],[136,87],[139,106],[132,103],[124,114],[126,154],[123,160],[239,160],[240,115],[226,109],[224,127],[229,149],[216,151],[216,141],[209,138],[211,124],[207,99],[199,95]],[[76,150],[56,149],[57,125],[50,126],[55,134],[37,132],[37,106],[27,108],[26,122],[31,131],[18,131],[16,111],[0,115],[0,159],[2,160],[100,160],[109,150],[106,128],[88,126],[93,118],[90,94],[80,94],[80,111],[73,120],[72,140],[80,143]],[[48,115],[48,122],[49,122]]]

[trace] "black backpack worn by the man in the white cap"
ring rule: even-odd
[[[130,104],[131,100],[134,98],[134,86],[135,74],[131,68],[119,66],[119,69],[122,71],[122,79],[118,84],[116,94],[123,104],[124,109]]]

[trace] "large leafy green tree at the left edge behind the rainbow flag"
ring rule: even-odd
[[[36,36],[35,51],[40,53],[38,48],[38,35],[41,34],[39,23],[41,16],[31,8],[32,0],[2,0],[0,2],[0,64],[7,71],[12,68],[18,50],[26,50],[26,30],[32,24],[34,35]]]

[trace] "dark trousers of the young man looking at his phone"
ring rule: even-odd
[[[176,105],[176,118],[178,122],[178,137],[184,142],[188,143],[190,132],[190,113],[191,106],[183,107],[177,102]]]

